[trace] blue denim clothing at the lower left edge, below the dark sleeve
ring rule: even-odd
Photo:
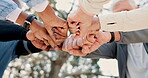
[[[0,42],[0,78],[2,78],[8,64],[15,58],[19,57],[15,54],[17,43],[17,40]]]

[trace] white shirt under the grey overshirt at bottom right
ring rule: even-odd
[[[128,44],[127,78],[148,78],[148,54],[143,43]]]

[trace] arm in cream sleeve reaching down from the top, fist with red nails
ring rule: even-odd
[[[76,34],[76,38],[84,37],[88,32],[88,28],[93,20],[93,16],[98,14],[103,4],[109,0],[79,0],[79,8],[68,15],[68,25],[72,33]],[[87,19],[87,20],[86,20]],[[100,26],[96,28],[100,29]]]

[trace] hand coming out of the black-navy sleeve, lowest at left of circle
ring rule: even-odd
[[[31,43],[36,47],[41,50],[49,51],[50,47],[48,47],[42,40],[39,40],[38,38],[35,37],[33,32],[30,30],[27,32],[26,37],[28,40],[31,41]]]

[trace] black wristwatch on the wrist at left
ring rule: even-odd
[[[33,21],[34,19],[37,20],[36,16],[33,15],[33,14],[32,14],[32,15],[29,15],[29,16],[26,18],[26,20],[24,21],[24,27],[26,28],[26,30],[29,30],[30,25],[31,25],[31,23],[32,23],[32,21]]]

